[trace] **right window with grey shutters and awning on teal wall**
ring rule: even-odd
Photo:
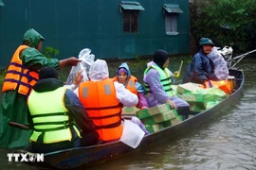
[[[176,4],[164,4],[165,31],[168,35],[178,34],[178,14],[183,11]]]

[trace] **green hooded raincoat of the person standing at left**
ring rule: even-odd
[[[23,44],[27,47],[20,53],[22,64],[39,70],[43,66],[59,68],[59,59],[46,59],[37,50],[40,40],[44,38],[34,29],[28,29],[24,35]],[[10,127],[9,121],[27,125],[27,99],[18,93],[18,88],[3,93],[0,106],[0,147],[23,147],[28,144],[32,130]]]

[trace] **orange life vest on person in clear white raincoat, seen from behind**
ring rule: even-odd
[[[100,140],[118,140],[122,135],[121,105],[114,81],[84,81],[79,86],[79,98],[93,120]]]

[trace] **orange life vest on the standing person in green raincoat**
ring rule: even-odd
[[[39,72],[35,69],[31,69],[23,65],[22,60],[20,59],[21,52],[27,47],[27,45],[20,45],[13,54],[3,84],[3,93],[16,90],[18,87],[18,93],[22,93],[28,96],[32,87],[38,81]]]

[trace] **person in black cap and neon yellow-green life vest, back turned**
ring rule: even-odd
[[[53,67],[43,67],[39,81],[27,98],[27,121],[33,129],[32,150],[46,153],[97,144],[99,135],[93,121],[75,93],[64,88]],[[82,129],[80,132],[73,121]],[[62,124],[61,124],[62,123]]]

